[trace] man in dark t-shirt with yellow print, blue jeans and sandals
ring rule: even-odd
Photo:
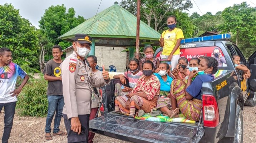
[[[59,45],[54,45],[52,49],[53,59],[49,60],[44,67],[44,79],[48,80],[48,114],[45,122],[45,139],[52,140],[51,137],[51,122],[53,120],[54,113],[54,128],[53,135],[67,135],[67,133],[60,131],[59,125],[62,116],[62,110],[64,106],[64,98],[62,91],[61,71],[60,64],[62,63],[61,55],[62,48]]]

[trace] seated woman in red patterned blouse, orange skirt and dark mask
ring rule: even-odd
[[[131,93],[115,98],[115,112],[134,117],[136,109],[149,113],[156,107],[160,92],[160,82],[153,75],[153,63],[150,60],[142,64],[143,75],[139,78]]]

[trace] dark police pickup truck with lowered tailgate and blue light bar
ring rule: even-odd
[[[113,79],[102,89],[104,114],[90,120],[90,131],[136,143],[243,142],[243,106],[256,105],[256,52],[246,60],[229,38],[229,34],[220,34],[181,41],[180,55],[188,60],[212,56],[216,48],[226,59],[226,64],[218,67],[215,80],[203,83],[201,122],[151,122],[116,114],[114,85],[120,80]],[[235,69],[232,54],[239,55],[241,64],[250,69],[249,79],[243,79],[243,71]],[[160,55],[158,49],[155,56]]]

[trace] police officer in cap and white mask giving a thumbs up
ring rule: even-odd
[[[108,71],[102,66],[102,77],[97,77],[86,62],[92,37],[76,34],[73,42],[74,52],[60,65],[63,84],[63,119],[68,132],[68,143],[87,143],[89,115],[93,87],[102,87],[110,82]],[[82,129],[82,132],[81,132]]]

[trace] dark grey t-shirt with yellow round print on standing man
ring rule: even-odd
[[[53,59],[49,60],[43,70],[43,74],[50,75],[52,77],[61,77],[60,64],[56,63]],[[62,81],[48,81],[47,95],[63,95]]]

